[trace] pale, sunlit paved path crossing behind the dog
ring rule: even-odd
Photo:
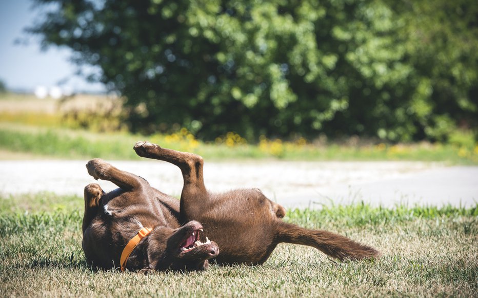
[[[0,161],[0,192],[51,191],[83,195],[94,182],[86,161]],[[160,161],[113,161],[121,170],[147,179],[153,187],[181,194],[177,167]],[[260,188],[285,207],[317,207],[323,203],[370,202],[393,206],[403,202],[443,206],[474,206],[478,202],[478,167],[445,167],[422,162],[206,162],[210,191]],[[115,185],[99,181],[105,191]]]

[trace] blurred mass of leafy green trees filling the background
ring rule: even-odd
[[[478,2],[33,0],[29,32],[125,97],[132,131],[446,140],[478,122]]]

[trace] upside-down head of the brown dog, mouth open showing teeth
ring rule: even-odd
[[[208,259],[219,254],[219,247],[207,239],[201,242],[203,226],[189,221],[175,230],[157,231],[150,243],[150,265],[156,270],[204,270]]]

